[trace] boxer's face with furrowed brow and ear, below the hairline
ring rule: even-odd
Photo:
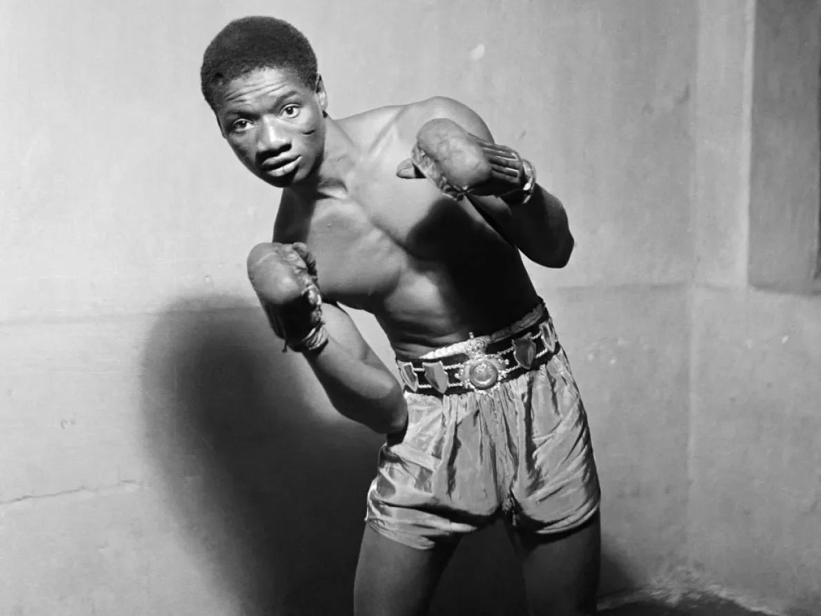
[[[263,68],[230,81],[216,113],[222,136],[245,167],[284,188],[322,162],[327,104],[322,80],[311,89],[288,71]]]

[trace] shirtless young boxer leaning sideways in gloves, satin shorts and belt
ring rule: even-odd
[[[594,614],[599,480],[585,409],[521,254],[573,239],[530,163],[452,99],[328,116],[310,44],[232,21],[201,71],[222,136],[281,188],[250,281],[344,416],[386,434],[367,495],[357,616],[424,614],[458,540],[502,517],[533,614]],[[389,370],[342,305],[378,319]]]

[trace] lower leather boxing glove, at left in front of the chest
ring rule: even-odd
[[[328,342],[316,261],[302,243],[259,244],[248,255],[248,278],[273,332],[293,351],[319,351]]]

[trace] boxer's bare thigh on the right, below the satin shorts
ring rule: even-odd
[[[508,526],[522,563],[532,616],[589,616],[596,613],[601,559],[599,513],[579,528],[553,536]]]

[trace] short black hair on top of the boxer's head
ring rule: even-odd
[[[200,87],[216,111],[224,85],[260,68],[290,71],[306,87],[316,85],[316,55],[305,34],[276,17],[250,16],[231,21],[203,55]]]

